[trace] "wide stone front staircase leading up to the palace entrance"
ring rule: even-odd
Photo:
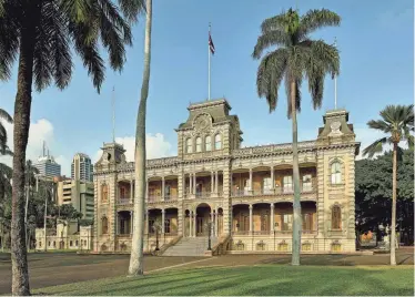
[[[211,237],[211,247],[217,244],[217,237]],[[183,256],[205,256],[208,250],[208,236],[182,237],[175,245],[169,247],[162,256],[183,257]]]

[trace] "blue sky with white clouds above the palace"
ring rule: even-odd
[[[216,49],[211,60],[211,98],[226,98],[232,113],[240,117],[244,146],[291,142],[286,117],[285,90],[274,113],[256,93],[259,61],[251,54],[266,18],[290,7],[300,13],[326,8],[342,17],[340,27],[313,34],[333,43],[341,52],[337,79],[338,107],[350,112],[357,141],[366,146],[381,134],[366,127],[387,104],[411,104],[414,100],[414,4],[412,0],[240,0],[240,1],[153,1],[152,60],[148,99],[148,157],[176,154],[174,129],[188,119],[191,102],[208,98],[208,28]],[[100,147],[112,141],[112,89],[115,89],[115,136],[133,161],[136,110],[143,70],[144,16],[133,27],[134,44],[126,50],[121,73],[108,66],[98,94],[79,58],[70,85],[33,91],[28,158],[41,154],[44,140],[50,153],[70,175],[70,163],[78,152],[95,162]],[[104,54],[105,59],[107,55]],[[8,82],[0,82],[0,106],[13,113],[17,68]],[[325,81],[321,110],[314,111],[306,83],[302,89],[298,116],[300,140],[313,140],[322,126],[322,115],[334,107],[334,82]],[[12,126],[9,146],[12,147]],[[0,162],[10,164],[10,158]]]

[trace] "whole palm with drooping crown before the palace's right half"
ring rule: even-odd
[[[261,35],[252,53],[254,59],[261,59],[262,53],[270,47],[276,47],[265,54],[257,69],[256,88],[260,98],[265,98],[270,112],[276,107],[279,88],[284,79],[287,98],[287,116],[292,119],[293,129],[293,250],[292,265],[300,265],[301,246],[301,204],[300,173],[297,151],[296,112],[301,110],[301,85],[303,79],[308,80],[308,91],[312,94],[314,109],[321,107],[323,100],[324,78],[327,73],[338,74],[340,57],[334,45],[323,40],[312,40],[311,33],[328,25],[338,25],[341,18],[327,10],[310,10],[304,16],[289,9],[279,16],[263,21]]]

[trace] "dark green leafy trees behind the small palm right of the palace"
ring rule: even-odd
[[[356,162],[356,232],[375,231],[391,226],[393,153],[386,152],[374,160]],[[414,152],[403,151],[397,160],[397,221],[401,242],[414,242]]]

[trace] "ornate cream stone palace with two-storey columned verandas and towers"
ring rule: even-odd
[[[224,99],[191,104],[175,130],[178,156],[148,160],[145,243],[169,255],[213,252],[290,253],[292,145],[241,147],[242,131]],[[287,129],[287,132],[291,129]],[[330,111],[316,139],[298,143],[302,250],[355,252],[355,141],[348,112]],[[94,168],[94,252],[131,248],[134,163],[105,143]],[[156,227],[158,226],[158,227]],[[156,236],[158,235],[158,236]],[[199,240],[196,240],[199,238]],[[188,248],[188,252],[186,252]],[[179,250],[179,254],[178,254]]]

